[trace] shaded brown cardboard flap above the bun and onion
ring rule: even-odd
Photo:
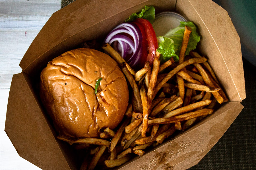
[[[49,18],[20,61],[20,67],[29,75],[36,74],[48,61],[82,42],[104,38],[145,5],[154,5],[156,12],[160,12],[174,10],[175,4],[176,0],[77,0]]]

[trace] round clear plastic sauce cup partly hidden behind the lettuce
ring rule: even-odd
[[[187,20],[176,12],[161,12],[157,14],[152,24],[156,37],[163,36],[170,29],[178,27],[181,21],[186,22]]]

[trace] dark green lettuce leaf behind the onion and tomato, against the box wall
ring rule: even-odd
[[[133,13],[125,22],[133,22],[133,20],[137,18],[146,19],[152,24],[153,21],[155,20],[155,8],[153,6],[145,6],[145,9],[142,9],[141,13]]]

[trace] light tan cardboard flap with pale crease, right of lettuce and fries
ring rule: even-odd
[[[199,27],[199,50],[209,58],[229,99],[245,99],[240,38],[228,13],[211,0],[178,0],[175,10]]]

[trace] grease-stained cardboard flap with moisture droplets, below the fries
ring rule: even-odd
[[[119,170],[188,169],[197,164],[217,143],[242,109],[240,102],[225,103],[195,126],[147,154],[134,158]]]

